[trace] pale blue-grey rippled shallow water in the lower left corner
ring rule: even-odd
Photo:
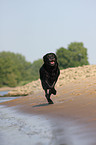
[[[49,122],[0,106],[0,145],[52,145]]]

